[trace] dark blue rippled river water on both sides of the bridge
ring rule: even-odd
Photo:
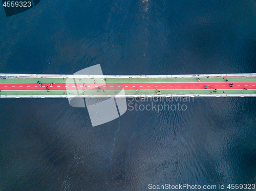
[[[1,73],[256,73],[253,0],[42,0],[0,16]],[[92,127],[66,99],[1,99],[0,190],[255,183],[256,100],[177,103],[187,109],[126,111]]]

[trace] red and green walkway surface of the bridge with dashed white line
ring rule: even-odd
[[[256,76],[228,76],[187,78],[97,78],[81,77],[0,77],[1,97],[8,96],[173,96],[226,95],[256,96]],[[152,77],[152,76],[151,76]],[[3,79],[5,78],[5,79]],[[197,79],[199,78],[199,79]],[[224,79],[223,79],[224,78]],[[226,81],[228,79],[228,81]],[[40,82],[41,86],[37,83]],[[53,84],[52,84],[53,83]],[[52,84],[52,85],[51,85]],[[232,84],[232,85],[231,85]],[[46,89],[48,86],[48,90]],[[207,87],[206,87],[207,86]]]

